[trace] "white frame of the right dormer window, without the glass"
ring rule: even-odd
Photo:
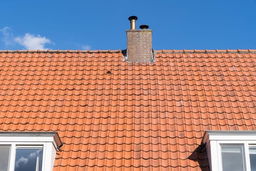
[[[202,143],[206,144],[211,171],[222,171],[222,145],[243,145],[245,169],[251,171],[249,148],[256,147],[256,131],[206,130]]]

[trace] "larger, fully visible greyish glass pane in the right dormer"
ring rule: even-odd
[[[245,171],[243,146],[221,146],[223,171]]]

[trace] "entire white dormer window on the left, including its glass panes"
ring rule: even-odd
[[[0,171],[52,171],[57,132],[0,132]]]

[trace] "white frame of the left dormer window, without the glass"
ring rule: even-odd
[[[16,149],[43,148],[42,171],[52,171],[56,151],[62,145],[57,132],[0,132],[0,146],[10,147],[8,171],[15,169]]]

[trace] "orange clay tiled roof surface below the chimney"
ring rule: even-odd
[[[54,171],[207,171],[210,129],[256,130],[255,50],[0,52],[0,130],[57,131]]]

